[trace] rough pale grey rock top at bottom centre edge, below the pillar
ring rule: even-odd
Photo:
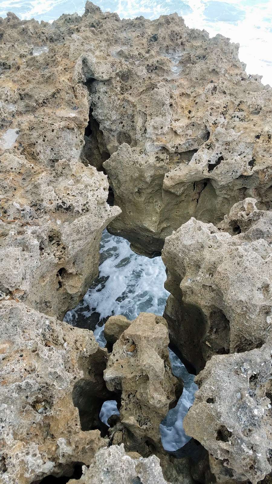
[[[123,444],[100,449],[89,469],[83,468],[81,479],[72,479],[68,484],[167,484],[158,457],[139,457],[126,454]]]

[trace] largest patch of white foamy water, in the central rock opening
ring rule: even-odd
[[[140,312],[163,314],[169,292],[164,288],[166,271],[161,257],[138,256],[127,240],[110,235],[106,230],[100,253],[98,281],[101,282],[88,290],[75,310],[66,314],[66,321],[76,325],[79,307],[84,308],[86,318],[96,312],[100,320],[116,314],[131,320]],[[103,327],[98,323],[94,335],[100,346],[105,346],[102,332]]]

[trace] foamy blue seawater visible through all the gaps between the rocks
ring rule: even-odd
[[[99,275],[83,300],[68,311],[64,321],[80,328],[91,329],[101,347],[106,345],[104,325],[109,316],[121,314],[135,319],[140,312],[163,315],[169,295],[164,288],[165,266],[161,257],[138,256],[122,237],[106,230],[100,243]],[[180,449],[190,437],[183,430],[183,418],[194,401],[197,386],[179,358],[169,349],[172,372],[184,381],[183,393],[175,408],[169,410],[160,425],[162,444],[168,451]],[[109,400],[101,408],[100,419],[107,423],[118,413],[116,402]]]

